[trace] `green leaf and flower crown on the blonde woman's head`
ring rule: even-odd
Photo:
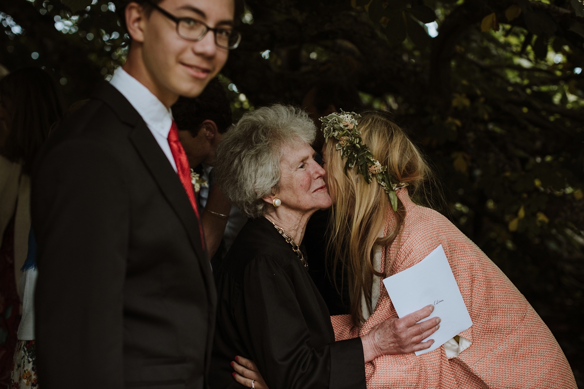
[[[389,195],[392,208],[397,211],[398,197],[395,190],[406,187],[408,184],[399,183],[398,188],[397,184],[392,183],[387,167],[381,166],[381,163],[373,157],[361,139],[361,132],[357,129],[359,124],[357,119],[360,118],[359,114],[340,110],[340,114],[332,113],[319,120],[322,121],[321,129],[325,139],[328,141],[329,138],[335,138],[339,141],[336,143],[336,149],[341,151],[341,157],[347,159],[345,173],[347,173],[347,169],[356,167],[365,177],[367,184],[371,183],[372,175],[376,176],[377,182]]]

